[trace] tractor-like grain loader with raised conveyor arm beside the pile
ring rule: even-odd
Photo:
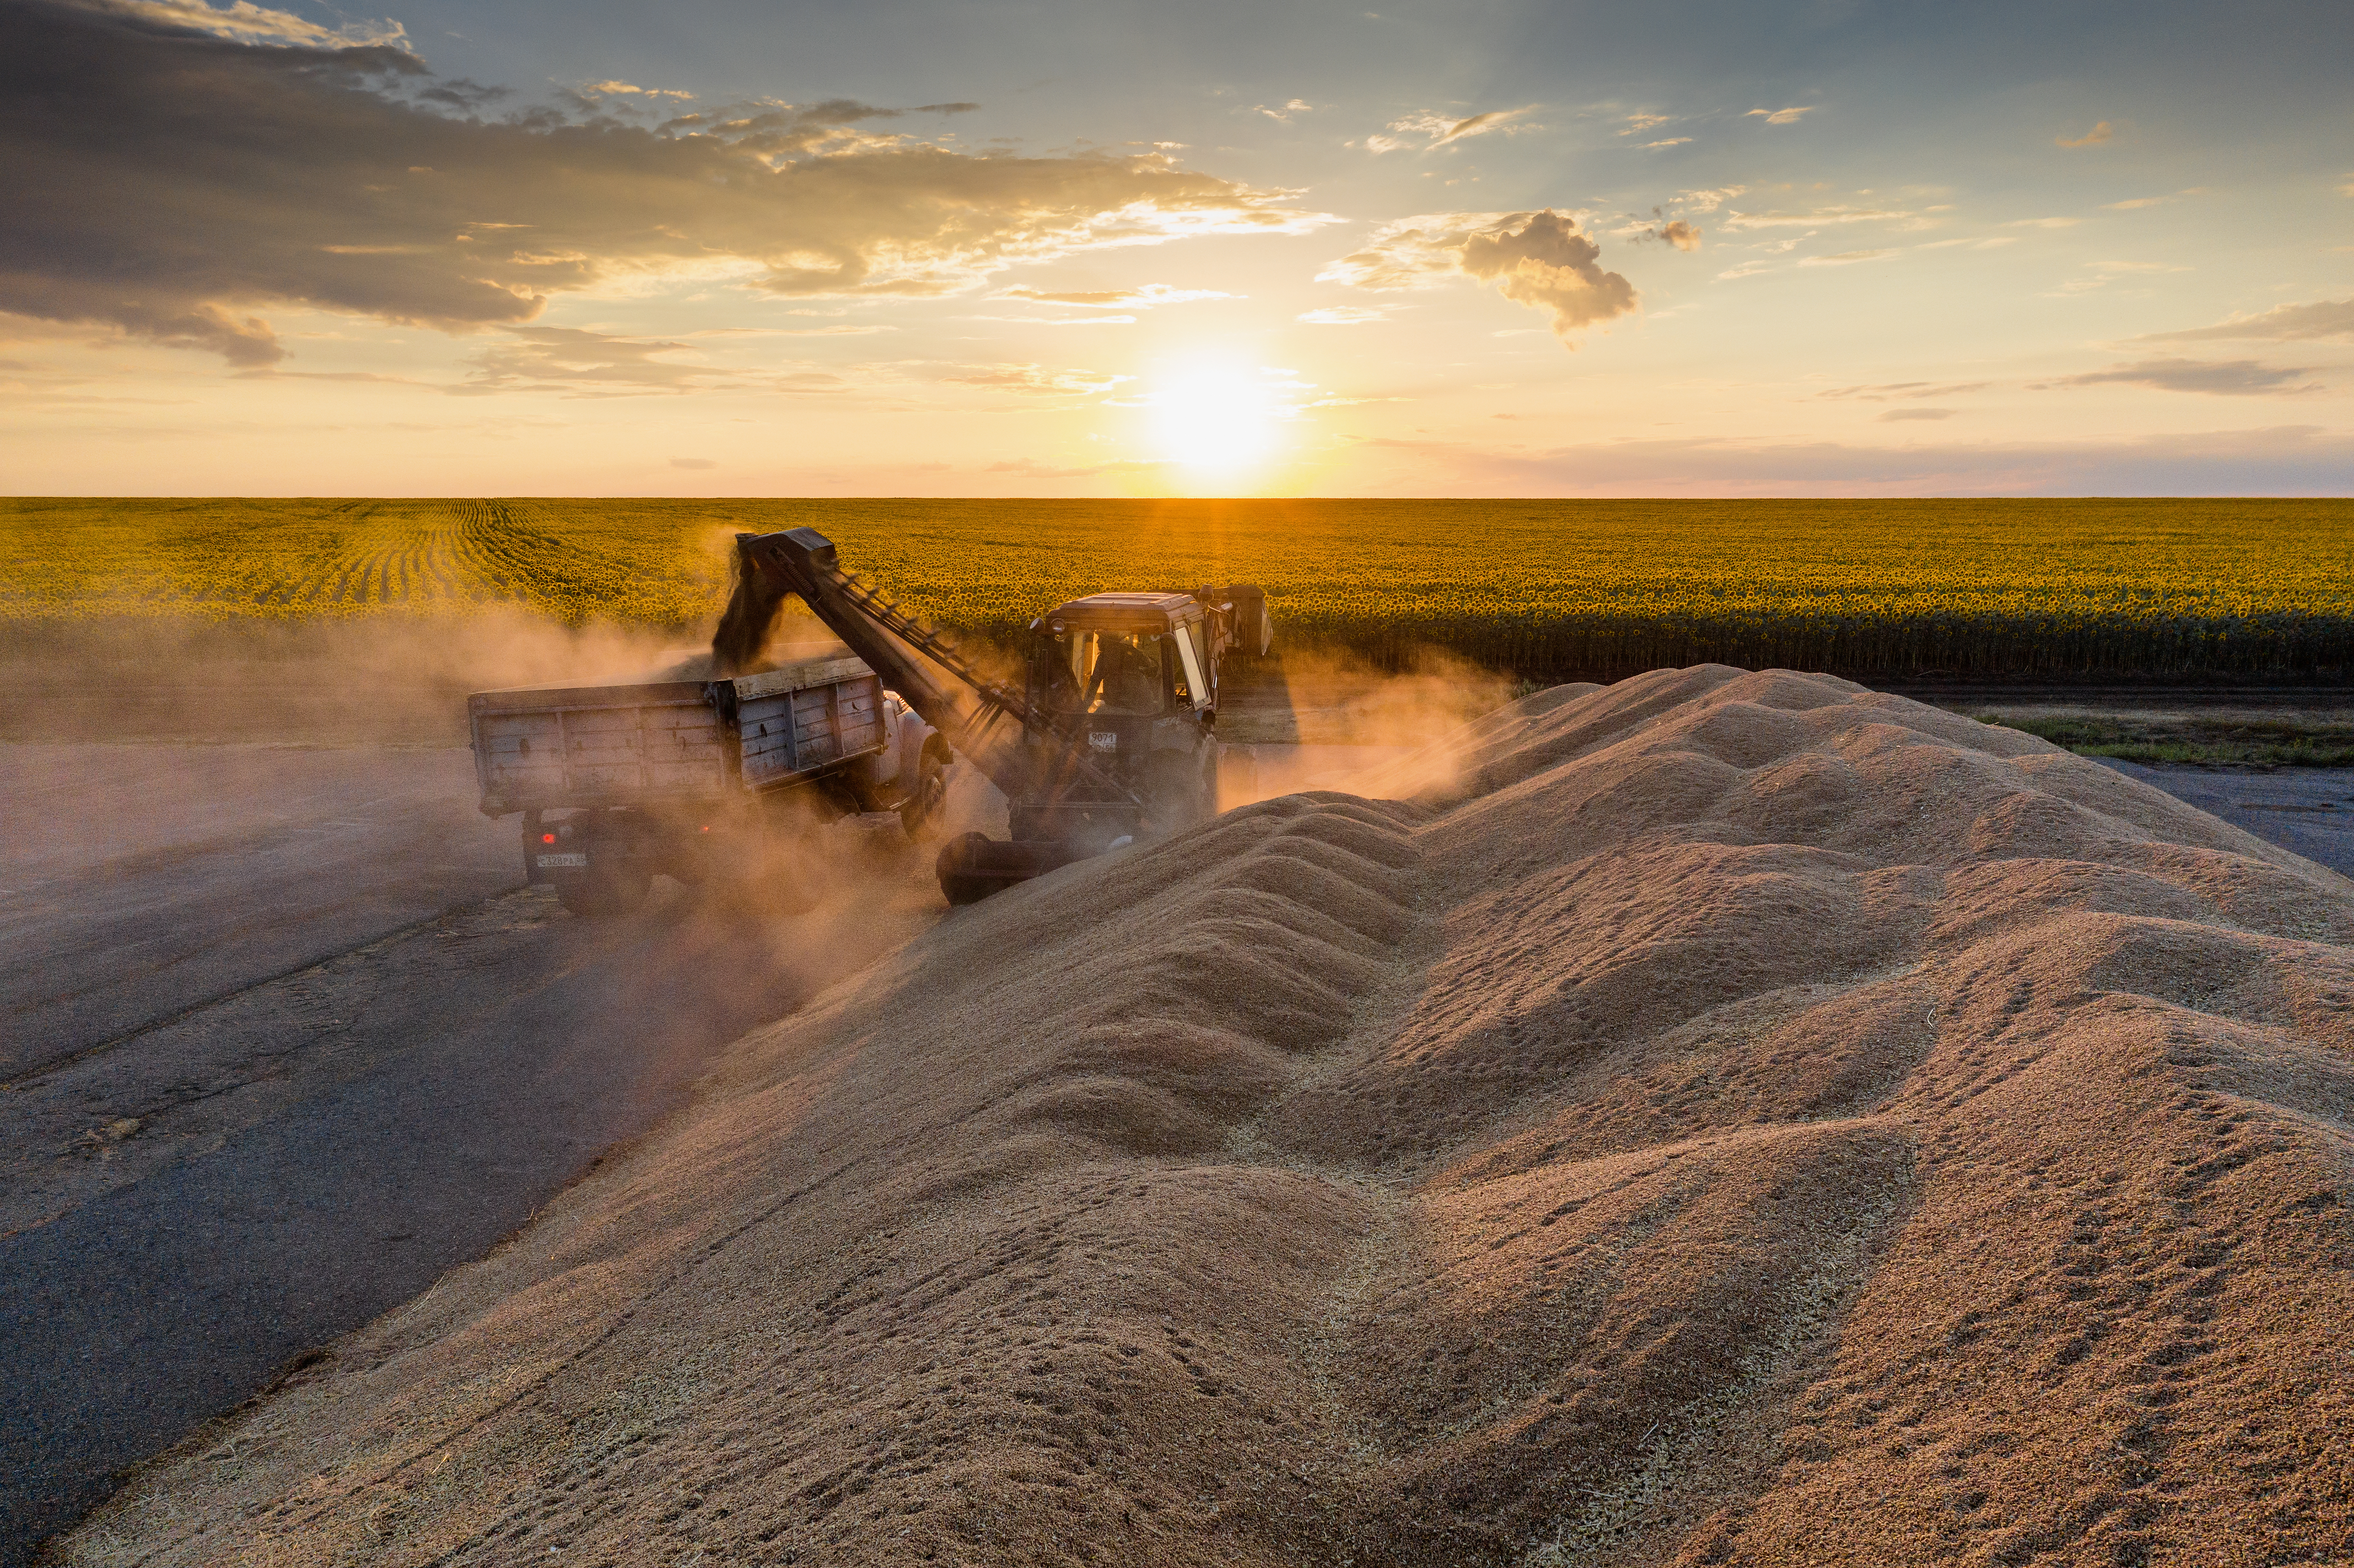
[[[1255,584],[1090,593],[1029,624],[1017,687],[793,527],[737,534],[716,662],[753,657],[789,596],[1005,793],[1010,838],[960,833],[939,850],[951,904],[1212,817],[1222,671],[1274,638]]]

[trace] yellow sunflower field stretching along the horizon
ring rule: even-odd
[[[0,617],[518,603],[692,631],[734,530],[814,525],[1005,636],[1097,589],[1266,586],[1292,636],[1528,676],[2328,678],[2354,501],[0,501]]]

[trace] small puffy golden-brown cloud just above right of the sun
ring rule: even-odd
[[[1361,290],[1417,290],[1450,278],[1495,283],[1504,299],[1544,311],[1554,334],[1636,308],[1634,285],[1601,268],[1601,247],[1563,212],[1448,212],[1387,224],[1365,250],[1316,273]]]

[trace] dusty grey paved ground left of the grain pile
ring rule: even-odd
[[[0,1563],[937,918],[520,888],[464,751],[0,746]]]

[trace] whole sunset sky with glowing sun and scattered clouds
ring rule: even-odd
[[[2354,490],[2342,0],[1372,5],[0,0],[0,490]]]

